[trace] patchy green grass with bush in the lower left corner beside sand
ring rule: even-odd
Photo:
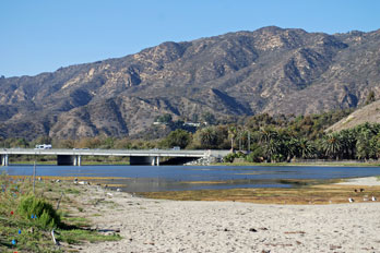
[[[31,178],[13,179],[0,176],[0,252],[67,252],[64,246],[58,248],[51,239],[55,228],[56,239],[67,243],[83,243],[120,240],[120,236],[103,234],[88,230],[91,221],[84,217],[72,215],[73,209],[85,212],[81,203],[75,202],[62,192],[81,194],[80,186],[70,182],[52,183],[50,180],[36,181],[35,194]],[[60,209],[56,212],[58,200]],[[31,214],[37,215],[32,219]],[[81,213],[82,214],[82,213]],[[51,222],[51,217],[56,221]],[[83,216],[85,213],[83,213]],[[20,231],[20,233],[19,233]],[[15,244],[12,244],[14,240]]]

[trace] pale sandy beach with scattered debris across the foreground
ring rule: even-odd
[[[366,181],[351,183],[358,182]],[[75,246],[80,252],[380,252],[379,202],[176,202],[90,188],[83,202],[105,201],[88,205],[86,217],[123,239]]]

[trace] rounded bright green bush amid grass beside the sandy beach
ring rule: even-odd
[[[32,217],[37,216],[35,222],[44,229],[51,229],[61,225],[61,217],[54,209],[52,205],[44,198],[37,198],[35,195],[27,195],[21,198],[19,214],[29,220],[32,220]]]

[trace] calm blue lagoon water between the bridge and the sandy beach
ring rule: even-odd
[[[1,167],[11,176],[33,174],[32,165]],[[47,166],[36,176],[112,178],[100,180],[128,192],[234,188],[292,188],[286,179],[329,180],[379,176],[380,167],[312,166]]]

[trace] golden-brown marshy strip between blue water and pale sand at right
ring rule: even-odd
[[[355,192],[355,189],[357,192]],[[364,189],[363,192],[359,190]],[[372,195],[380,196],[380,186],[355,186],[340,184],[320,184],[294,189],[231,189],[200,190],[177,192],[149,192],[140,195],[150,198],[176,201],[236,201],[261,204],[337,204],[365,202]]]

